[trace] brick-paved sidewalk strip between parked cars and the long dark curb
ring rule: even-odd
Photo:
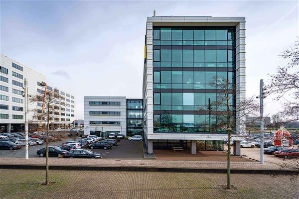
[[[0,164],[11,165],[44,165],[45,158],[0,158]],[[226,162],[218,161],[171,161],[171,160],[111,160],[111,159],[66,159],[49,158],[50,165],[70,165],[70,166],[130,166],[130,167],[157,167],[157,168],[215,168],[226,169]],[[278,164],[265,162],[261,165],[259,162],[231,162],[232,169],[264,169],[280,170],[282,167]],[[283,168],[288,169],[288,168]]]

